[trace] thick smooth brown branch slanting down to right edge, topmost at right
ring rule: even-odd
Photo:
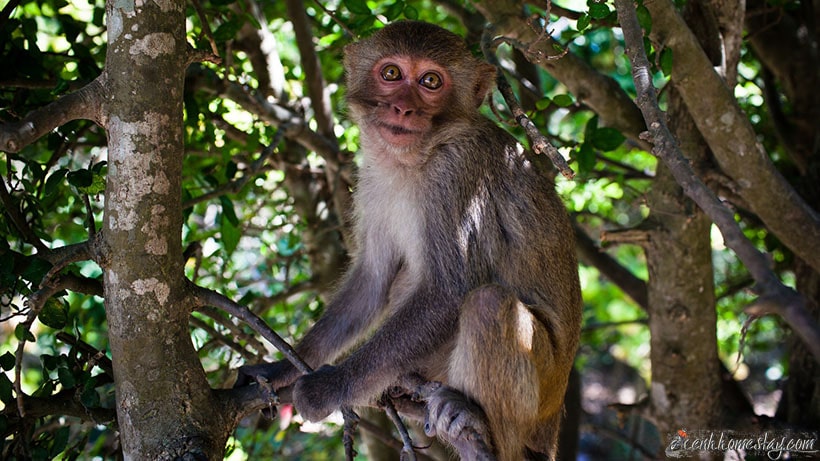
[[[732,89],[715,72],[673,3],[648,0],[644,5],[652,15],[653,41],[659,49],[674,52],[672,83],[721,168],[766,227],[820,272],[820,215],[774,167]]]

